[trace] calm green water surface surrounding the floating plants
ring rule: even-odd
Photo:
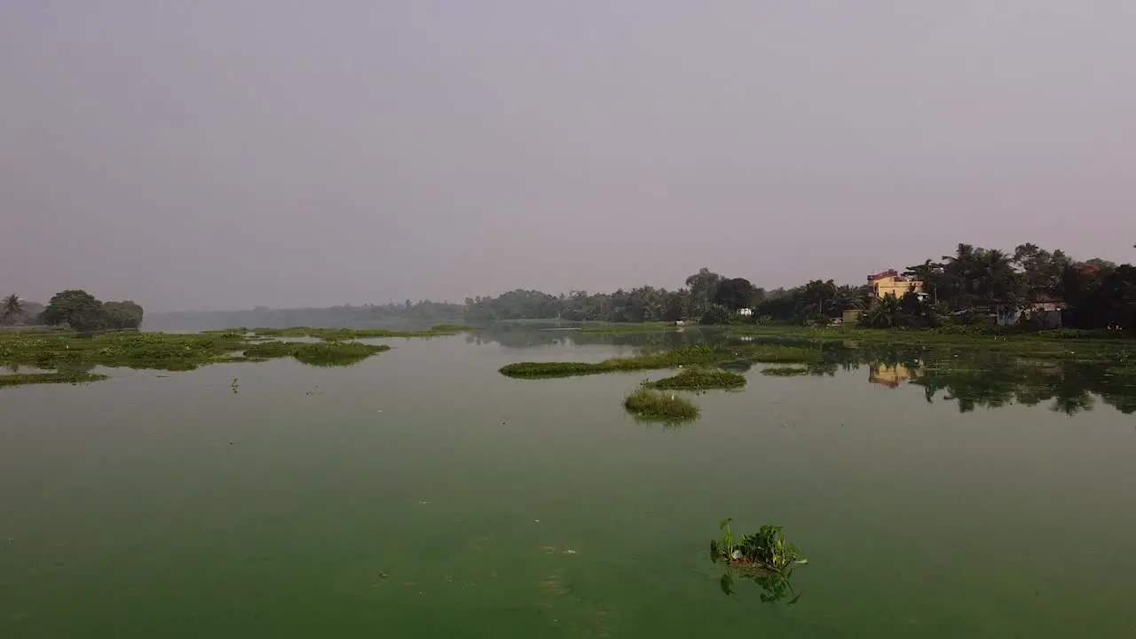
[[[1084,389],[759,365],[666,429],[620,407],[666,372],[496,373],[593,341],[0,391],[0,637],[1136,636],[1136,417]],[[722,592],[726,516],[802,548],[794,605]]]

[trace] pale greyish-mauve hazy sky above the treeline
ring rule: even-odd
[[[2,0],[0,293],[1136,258],[1133,0]]]

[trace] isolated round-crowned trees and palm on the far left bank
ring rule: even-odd
[[[125,301],[102,302],[82,290],[67,290],[51,297],[48,306],[24,301],[17,294],[0,300],[0,324],[67,324],[76,331],[137,329],[142,325],[142,307]]]

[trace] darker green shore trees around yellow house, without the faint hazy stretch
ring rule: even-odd
[[[1041,301],[1064,302],[1068,322],[1078,327],[1136,330],[1136,268],[1094,258],[1078,262],[1060,250],[1018,246],[1012,254],[959,244],[955,254],[908,267],[904,275],[922,281],[924,294],[876,299],[867,285],[812,280],[791,289],[766,291],[743,277],[702,268],[677,290],[641,287],[613,293],[511,291],[466,300],[466,320],[559,318],[604,322],[724,324],[743,321],[737,310],[753,309],[753,322],[827,323],[845,310],[863,310],[869,326],[935,326],[952,313],[987,316],[996,309],[1024,309]]]

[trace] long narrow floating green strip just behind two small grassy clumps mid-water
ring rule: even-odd
[[[616,357],[596,364],[582,362],[523,362],[501,367],[508,377],[546,379],[574,375],[594,375],[620,371],[650,371],[677,368],[678,366],[712,365],[722,362],[746,359],[766,363],[809,363],[820,358],[816,348],[803,346],[751,343],[720,346],[688,346],[674,350],[644,352],[633,357]]]

